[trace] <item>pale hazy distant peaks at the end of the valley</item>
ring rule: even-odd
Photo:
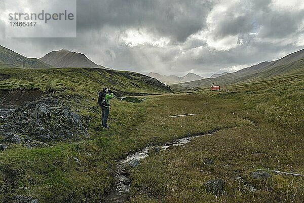
[[[194,73],[188,73],[185,76],[178,77],[178,76],[175,76],[175,75],[164,76],[164,75],[161,75],[161,74],[158,74],[158,73],[150,72],[150,73],[147,74],[147,76],[150,76],[152,78],[156,78],[160,82],[168,84],[168,85],[203,79],[203,77],[201,77],[197,74],[194,74]]]

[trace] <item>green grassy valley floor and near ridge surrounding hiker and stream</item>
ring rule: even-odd
[[[1,151],[0,199],[4,202],[17,194],[39,202],[100,202],[115,183],[118,160],[149,145],[210,132],[214,134],[185,147],[151,151],[130,170],[129,201],[304,201],[304,177],[270,172],[304,174],[304,75],[231,85],[227,91],[198,88],[168,93],[140,82],[140,76],[128,79],[124,72],[108,71],[108,77],[90,69],[1,69],[1,73],[11,76],[0,81],[3,90],[52,92],[88,121],[90,136],[48,143],[50,147],[44,148],[10,145]],[[100,126],[96,100],[103,86],[122,96],[137,94],[145,99],[142,103],[112,99],[109,130]],[[197,115],[170,117],[183,114]],[[206,166],[206,158],[214,165]],[[271,178],[252,179],[250,173],[259,169],[269,171]],[[246,189],[237,176],[258,191]],[[225,181],[218,195],[204,186],[216,178]]]

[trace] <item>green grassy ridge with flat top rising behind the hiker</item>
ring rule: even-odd
[[[18,87],[39,88],[42,91],[52,89],[60,94],[81,94],[96,96],[102,87],[108,87],[117,95],[142,95],[172,92],[156,79],[142,74],[92,68],[63,69],[0,69],[0,73],[9,75],[0,81],[1,89]]]

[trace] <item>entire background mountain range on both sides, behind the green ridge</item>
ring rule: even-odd
[[[71,52],[66,49],[52,51],[41,59],[27,58],[8,48],[0,46],[0,67],[22,67],[27,69],[49,69],[51,67],[96,67],[97,65],[84,54]],[[215,85],[230,85],[237,83],[249,83],[264,79],[270,79],[282,75],[303,74],[304,49],[291,53],[275,61],[264,61],[252,65],[235,73],[214,74],[211,78],[204,79],[194,73],[188,73],[183,77],[175,75],[163,76],[157,73],[149,73],[147,76],[156,78],[162,83],[172,85],[176,89],[193,89],[197,87],[209,87]],[[189,81],[189,82],[188,82]]]

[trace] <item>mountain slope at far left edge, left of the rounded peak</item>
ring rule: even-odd
[[[0,67],[25,67],[29,69],[48,69],[53,66],[37,58],[24,57],[0,45]]]

